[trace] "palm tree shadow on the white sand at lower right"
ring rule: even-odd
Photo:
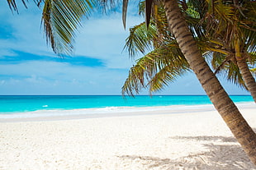
[[[255,131],[255,129],[254,129]],[[206,141],[203,145],[210,151],[189,154],[178,159],[158,158],[141,155],[121,155],[118,156],[123,161],[141,163],[145,169],[211,169],[211,170],[255,170],[256,167],[250,162],[244,150],[237,145],[234,137],[225,136],[172,136],[173,140],[197,140]],[[220,141],[220,145],[215,145],[209,141]],[[221,143],[225,142],[225,143]],[[223,144],[223,145],[222,145]]]

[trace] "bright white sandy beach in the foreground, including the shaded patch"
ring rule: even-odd
[[[240,111],[255,130],[255,104]],[[216,111],[186,112],[2,120],[0,169],[256,169]]]

